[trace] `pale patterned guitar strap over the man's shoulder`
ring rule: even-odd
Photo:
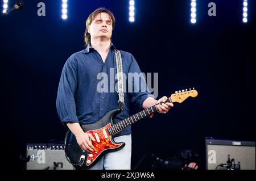
[[[117,94],[119,97],[118,104],[119,109],[123,111],[123,105],[125,104],[125,94],[123,94],[123,64],[120,50],[115,49],[115,62],[117,65]]]

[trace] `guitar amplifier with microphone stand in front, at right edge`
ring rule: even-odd
[[[205,148],[207,170],[255,170],[255,141],[206,139]]]

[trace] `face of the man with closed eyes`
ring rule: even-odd
[[[112,20],[106,12],[101,12],[96,15],[92,24],[88,27],[88,32],[91,38],[106,37],[108,39],[112,36]]]

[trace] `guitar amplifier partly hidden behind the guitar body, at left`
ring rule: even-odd
[[[26,170],[73,170],[64,149],[64,144],[27,144]]]

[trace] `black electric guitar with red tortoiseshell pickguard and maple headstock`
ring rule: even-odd
[[[165,103],[182,103],[189,96],[194,98],[197,94],[198,92],[194,89],[186,89],[179,92],[176,91],[175,94],[172,94]],[[87,153],[82,150],[77,144],[75,135],[71,131],[68,131],[65,135],[65,156],[68,161],[76,167],[76,169],[89,169],[109,151],[117,151],[125,146],[125,142],[115,142],[113,140],[114,134],[122,131],[124,128],[137,122],[143,117],[151,115],[151,113],[155,111],[157,111],[157,108],[154,105],[120,121],[119,123],[113,124],[113,117],[121,112],[121,110],[119,108],[110,110],[95,123],[81,125],[84,132],[92,134],[92,136],[96,138],[96,141],[91,140],[92,145],[94,146],[93,152]]]

